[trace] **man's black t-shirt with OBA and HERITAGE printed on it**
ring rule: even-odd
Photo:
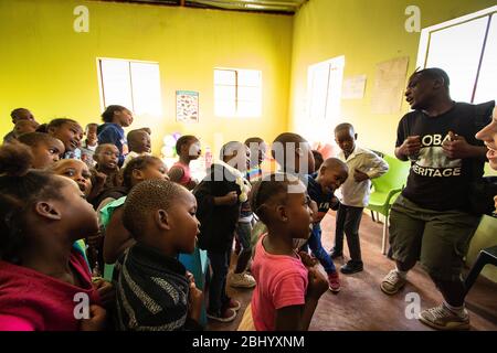
[[[485,124],[489,122],[490,116]],[[466,210],[469,182],[483,175],[484,160],[450,159],[442,143],[448,139],[448,131],[453,131],[469,145],[484,146],[475,138],[478,130],[475,105],[456,103],[451,110],[436,117],[429,117],[421,110],[408,113],[399,122],[395,147],[416,135],[421,137],[422,147],[417,160],[411,162],[402,194],[429,210]]]

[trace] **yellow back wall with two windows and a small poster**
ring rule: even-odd
[[[76,33],[73,9],[89,9],[89,32]],[[30,108],[40,122],[73,117],[99,122],[96,57],[159,62],[163,117],[137,118],[152,128],[159,152],[165,133],[189,132],[212,146],[287,126],[293,18],[177,7],[71,0],[0,0],[0,133],[13,108]],[[263,116],[213,116],[213,67],[257,68],[263,74]],[[200,124],[176,122],[176,90],[200,92]]]

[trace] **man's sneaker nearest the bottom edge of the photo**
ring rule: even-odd
[[[462,314],[454,313],[445,304],[423,310],[420,321],[437,330],[469,330],[469,315],[466,309]]]

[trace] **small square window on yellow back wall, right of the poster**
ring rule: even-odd
[[[260,117],[262,73],[256,69],[214,68],[214,114],[218,117]]]

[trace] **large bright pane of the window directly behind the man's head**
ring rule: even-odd
[[[451,78],[454,100],[470,101],[488,17],[431,33],[426,67],[441,67]]]

